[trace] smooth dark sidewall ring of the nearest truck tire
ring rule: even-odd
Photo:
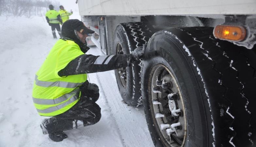
[[[197,82],[198,75],[192,69],[192,63],[187,59],[187,55],[182,52],[182,47],[178,45],[177,40],[168,34],[155,35],[148,43],[145,52],[145,59],[142,69],[142,96],[144,100],[144,110],[148,128],[155,146],[164,146],[164,143],[159,140],[160,136],[157,133],[159,128],[154,124],[151,111],[151,90],[150,72],[151,69],[162,64],[166,66],[175,76],[176,81],[181,89],[181,95],[185,105],[185,113],[187,119],[186,142],[184,146],[209,146],[208,127],[211,127],[210,120],[206,118],[206,111],[209,108],[204,108],[206,97],[201,95],[200,86]],[[167,40],[164,40],[167,39]],[[200,78],[200,77],[199,77]],[[179,80],[177,80],[179,79]],[[201,107],[198,107],[201,106]],[[198,139],[199,138],[199,139]],[[205,138],[205,140],[200,140]]]

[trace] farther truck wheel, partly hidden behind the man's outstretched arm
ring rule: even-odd
[[[153,27],[145,22],[129,22],[117,25],[114,39],[116,54],[129,54],[137,47],[147,43],[153,35]],[[129,67],[115,70],[115,76],[120,94],[129,106],[142,104],[141,99],[141,62]]]

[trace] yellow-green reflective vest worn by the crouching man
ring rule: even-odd
[[[71,40],[58,40],[36,73],[33,102],[41,116],[55,116],[69,110],[81,96],[79,90],[87,74],[60,77],[58,72],[84,54]]]

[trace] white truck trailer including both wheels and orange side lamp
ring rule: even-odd
[[[105,54],[147,44],[141,62],[115,70],[120,94],[143,104],[155,146],[256,142],[255,0],[79,0]]]

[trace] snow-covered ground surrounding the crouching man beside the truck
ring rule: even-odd
[[[122,101],[114,71],[89,74],[90,82],[100,88],[97,104],[102,117],[97,124],[65,131],[68,138],[62,142],[43,135],[40,123],[45,117],[34,108],[32,87],[36,71],[57,39],[44,17],[1,16],[0,21],[0,147],[154,146],[143,107]],[[102,54],[96,47],[88,53]]]

